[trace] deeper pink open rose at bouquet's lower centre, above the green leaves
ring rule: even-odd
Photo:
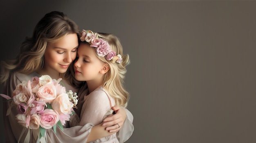
[[[42,114],[39,115],[40,126],[45,129],[50,129],[60,120],[57,111],[52,109],[45,109]]]

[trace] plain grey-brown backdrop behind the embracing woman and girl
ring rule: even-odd
[[[126,143],[256,143],[256,2],[0,0],[0,60],[54,10],[130,55]]]

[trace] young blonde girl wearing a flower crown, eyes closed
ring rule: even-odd
[[[126,65],[129,56],[123,54],[119,39],[106,33],[83,30],[81,42],[74,63],[75,78],[86,81],[80,126],[87,123],[97,125],[112,114],[111,107],[126,107],[129,93],[124,89]],[[79,91],[80,92],[80,91]],[[119,128],[119,124],[117,124]],[[116,134],[95,142],[119,143]]]

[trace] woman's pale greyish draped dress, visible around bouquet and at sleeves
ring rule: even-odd
[[[16,88],[16,85],[21,83],[24,80],[31,80],[32,77],[38,76],[37,73],[32,73],[30,75],[20,74],[18,72],[13,73],[11,75],[11,78],[9,79],[9,82],[7,83],[7,86],[4,87],[4,94],[11,96],[12,92]],[[72,90],[74,92],[78,92],[77,89],[74,89],[73,87],[69,86],[65,83],[65,81],[62,81],[65,85],[66,91]],[[83,100],[80,104],[83,104]],[[16,106],[13,106],[11,108],[11,112],[8,116],[5,116],[7,113],[7,109],[10,106],[10,102],[3,102],[3,118],[4,118],[4,134],[6,143],[17,143],[18,139],[20,137],[20,134],[23,130],[23,126],[18,124],[17,120],[15,119],[15,115],[18,114]],[[126,109],[127,117],[124,122],[123,127],[119,130],[117,133],[117,139],[120,143],[123,143],[124,141],[128,140],[134,130],[134,127],[132,125],[133,116],[132,114]],[[90,134],[90,131],[92,129],[92,126],[94,124],[87,123],[84,126],[74,126],[71,128],[64,128],[64,131],[62,131],[60,128],[56,128],[56,134],[52,129],[46,130],[45,137],[47,143],[86,143],[88,136]],[[27,135],[28,130],[25,130],[23,133],[23,136],[20,139],[20,143],[23,143],[25,140],[25,137]],[[32,136],[32,130],[30,130],[30,139],[29,143],[36,143],[36,139]]]

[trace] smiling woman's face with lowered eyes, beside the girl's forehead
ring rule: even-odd
[[[44,54],[43,69],[48,72],[65,73],[76,58],[78,38],[75,33],[68,34],[55,43],[48,43]]]

